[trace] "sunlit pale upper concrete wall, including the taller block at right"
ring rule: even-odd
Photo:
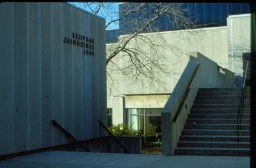
[[[125,57],[124,54],[118,54],[118,56],[112,60],[113,63],[109,63],[107,66],[110,75],[110,77],[108,76],[108,96],[145,95],[145,97],[147,97],[148,94],[164,95],[172,93],[173,88],[177,84],[180,75],[189,61],[189,53],[195,51],[202,53],[223,68],[227,68],[240,75],[243,74],[242,54],[243,52],[250,52],[250,16],[228,17],[227,22],[228,26],[224,27],[166,31],[160,33],[160,36],[163,38],[157,38],[159,34],[156,33],[143,34],[151,38],[152,42],[156,43],[156,45],[159,45],[161,40],[165,40],[173,46],[172,49],[158,47],[158,52],[162,53],[167,60],[160,60],[160,63],[164,63],[164,65],[168,65],[172,69],[172,73],[169,75],[156,73],[159,75],[158,78],[161,79],[165,88],[149,86],[148,82],[143,82],[143,79],[141,79],[142,82],[132,83],[116,67],[117,65],[120,68],[124,68],[125,65],[129,63],[129,58]],[[120,36],[120,40],[122,40],[122,38],[124,38],[124,36]],[[116,46],[118,46],[118,43],[108,44],[107,52],[110,53],[112,48]],[[143,52],[147,52],[148,57],[156,57],[152,49],[143,45],[143,42],[140,42],[140,40],[136,42],[133,41],[128,47],[137,47],[143,50]],[[235,56],[236,54],[237,56]],[[159,59],[158,56],[157,59]],[[145,99],[145,97],[143,97],[143,99]],[[137,100],[136,103],[133,102],[133,106],[146,107],[148,103],[143,99]],[[125,106],[129,105],[128,102],[127,99]],[[163,102],[165,103],[166,100],[163,100]],[[163,104],[163,102],[161,102],[161,104]],[[124,102],[122,102],[122,104],[123,103]],[[129,105],[129,107],[132,107],[132,105]],[[158,108],[159,106],[156,103],[152,103],[150,107]],[[114,109],[113,113],[116,113]],[[113,118],[115,118],[115,116],[113,116]],[[118,121],[121,120],[119,119]],[[114,119],[113,122],[115,122]]]

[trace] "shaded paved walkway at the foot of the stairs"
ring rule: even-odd
[[[248,168],[250,157],[211,157],[211,156],[159,156],[116,153],[86,153],[73,151],[47,151],[33,155],[0,160],[0,167],[26,168],[115,168],[115,167],[168,167],[168,168]]]

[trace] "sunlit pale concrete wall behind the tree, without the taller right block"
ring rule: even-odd
[[[193,35],[192,33],[195,34]],[[125,108],[163,108],[168,100],[168,96],[165,97],[165,94],[172,93],[173,88],[189,61],[189,52],[199,51],[213,61],[216,61],[218,65],[224,68],[228,67],[227,27],[205,28],[193,31],[168,31],[160,34],[160,36],[163,36],[163,39],[157,38],[159,35],[156,33],[144,35],[154,39],[152,41],[156,44],[161,43],[161,40],[166,40],[170,45],[177,47],[177,49],[173,48],[173,50],[167,50],[164,47],[158,48],[158,52],[163,53],[163,56],[168,60],[160,60],[161,63],[171,67],[173,73],[169,75],[157,73],[157,75],[160,75],[159,78],[162,80],[165,88],[159,86],[150,87],[148,86],[148,82],[143,82],[143,79],[141,80],[142,83],[135,82],[132,84],[117,68],[117,66],[124,68],[129,63],[129,58],[124,57],[123,54],[118,54],[112,60],[113,63],[109,63],[107,66],[110,75],[108,76],[107,82],[108,96],[116,97],[125,95],[125,101],[122,102],[123,99],[116,101],[114,100],[116,98],[113,100],[108,98],[108,102],[115,102],[115,106],[108,103],[108,108],[113,108],[113,124],[124,122]],[[120,36],[120,39],[122,38],[124,36]],[[158,39],[158,42],[156,39]],[[110,53],[112,48],[115,48],[117,45],[116,43],[108,44],[107,52]],[[149,53],[149,57],[156,57],[154,52],[150,51],[148,47],[143,47],[143,42],[136,41],[129,44],[128,47],[140,47],[140,50]],[[130,94],[133,96],[127,96]],[[149,96],[148,94],[157,95]],[[117,102],[120,102],[120,104],[117,105]],[[124,110],[122,111],[122,109]]]

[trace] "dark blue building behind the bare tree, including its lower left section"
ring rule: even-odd
[[[119,17],[124,15],[124,11],[133,6],[138,6],[138,3],[120,3],[119,4]],[[248,3],[184,3],[181,8],[188,8],[188,12],[185,13],[185,17],[189,20],[196,22],[196,24],[202,25],[202,27],[218,27],[227,26],[228,15],[239,15],[250,12],[250,4]],[[141,6],[140,12],[143,10],[150,10],[150,4],[145,3]],[[141,17],[140,12],[131,13],[125,20],[122,19],[119,22],[119,29],[111,29],[106,31],[107,43],[115,43],[118,40],[118,36],[122,34],[131,33],[134,29],[134,24],[127,20],[136,18],[138,22],[143,23],[143,20],[147,20],[147,15]],[[157,29],[159,31],[173,31],[177,30],[175,24],[170,24],[168,17],[163,15],[156,22]],[[182,29],[182,28],[178,28]],[[146,33],[146,32],[143,32]]]

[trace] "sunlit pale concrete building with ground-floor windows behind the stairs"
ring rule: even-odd
[[[172,96],[173,88],[188,64],[191,52],[200,52],[221,68],[234,72],[236,86],[241,86],[244,56],[250,54],[250,23],[250,14],[232,15],[227,17],[227,26],[143,34],[157,44],[161,43],[157,36],[161,36],[161,39],[177,47],[175,50],[167,50],[164,47],[158,49],[167,60],[162,60],[161,63],[172,67],[173,74],[170,77],[159,73],[164,88],[143,82],[132,83],[126,80],[125,75],[115,66],[124,68],[129,63],[129,58],[125,54],[115,57],[113,63],[108,65],[108,73],[111,75],[107,88],[109,122],[112,120],[112,124],[132,125],[133,128],[142,130],[145,135],[161,132],[161,110],[169,96]],[[124,37],[119,36],[118,40]],[[131,43],[130,47],[136,48],[138,43],[140,50],[147,52],[148,57],[156,57],[140,40]],[[107,44],[107,52],[111,52],[111,48],[116,45],[118,43]],[[111,82],[113,80],[114,84]]]

